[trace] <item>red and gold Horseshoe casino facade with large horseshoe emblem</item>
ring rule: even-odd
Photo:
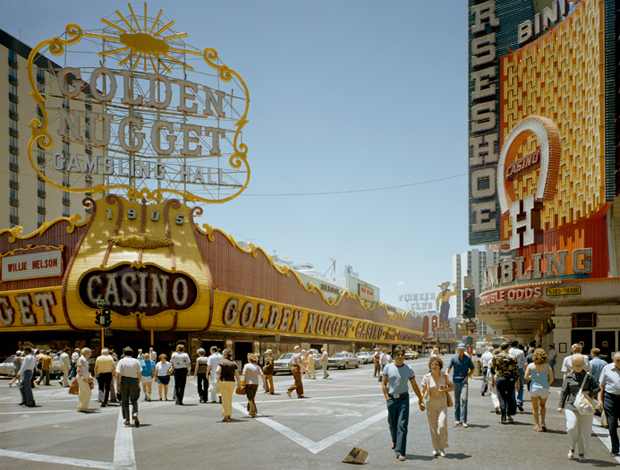
[[[620,349],[615,1],[469,1],[469,241],[499,245],[478,317]]]

